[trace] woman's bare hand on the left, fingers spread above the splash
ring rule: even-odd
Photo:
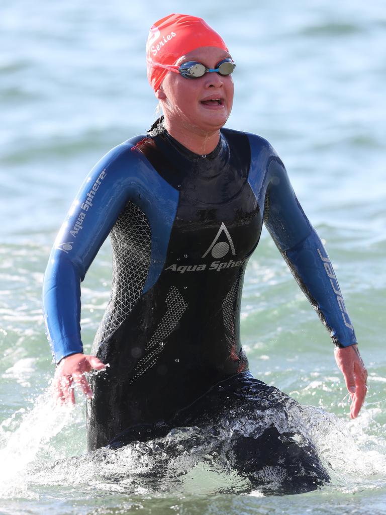
[[[88,399],[93,398],[93,390],[86,380],[85,373],[106,370],[97,357],[90,354],[71,354],[64,357],[56,368],[53,396],[58,404],[75,404],[74,385],[79,386]]]

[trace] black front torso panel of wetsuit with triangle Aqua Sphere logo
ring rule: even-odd
[[[111,368],[109,379],[95,381],[89,426],[99,421],[98,435],[101,420],[108,427],[102,440],[93,435],[93,447],[129,425],[168,420],[218,381],[248,369],[241,289],[262,216],[247,181],[247,136],[223,131],[206,157],[182,152],[165,131],[137,148],[179,192],[179,202],[159,278],[98,351]]]

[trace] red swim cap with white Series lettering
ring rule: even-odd
[[[188,14],[169,14],[154,23],[146,43],[147,78],[154,91],[160,89],[168,70],[157,63],[173,65],[183,55],[201,46],[228,51],[218,33],[202,18]]]

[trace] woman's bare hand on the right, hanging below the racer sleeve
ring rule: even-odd
[[[343,349],[336,348],[335,361],[343,374],[352,400],[350,418],[357,418],[367,393],[367,370],[359,354],[357,344]]]

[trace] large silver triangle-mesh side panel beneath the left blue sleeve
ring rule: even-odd
[[[111,233],[113,280],[106,312],[95,335],[93,352],[125,321],[142,293],[149,266],[151,232],[145,214],[132,202]]]

